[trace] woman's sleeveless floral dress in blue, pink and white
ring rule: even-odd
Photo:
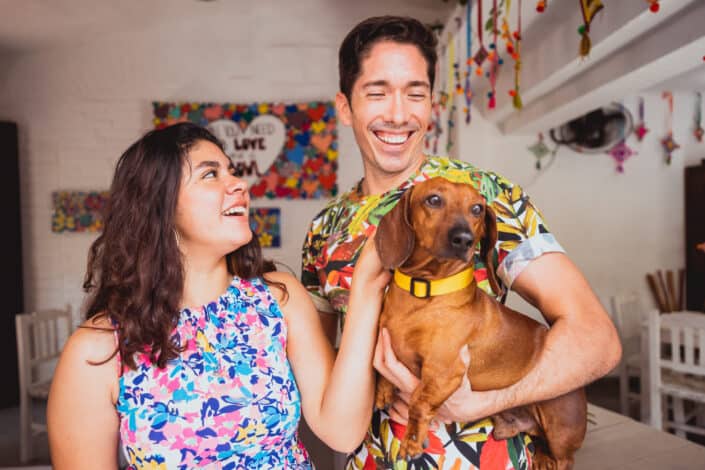
[[[286,323],[261,279],[235,277],[181,311],[165,369],[147,354],[120,377],[120,437],[131,469],[311,469]]]

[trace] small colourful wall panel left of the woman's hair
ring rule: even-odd
[[[52,232],[100,232],[108,191],[55,191]]]

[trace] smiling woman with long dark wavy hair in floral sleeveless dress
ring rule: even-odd
[[[262,259],[234,172],[189,123],[120,158],[49,396],[55,469],[115,469],[119,439],[131,468],[310,468],[301,411],[336,450],[362,441],[389,276],[361,257],[335,358],[307,291]]]

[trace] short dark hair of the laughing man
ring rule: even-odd
[[[338,51],[340,91],[350,101],[353,85],[360,76],[362,61],[372,47],[381,41],[416,46],[426,59],[428,80],[433,89],[436,76],[437,39],[433,31],[420,21],[403,16],[375,16],[355,26],[345,36]]]

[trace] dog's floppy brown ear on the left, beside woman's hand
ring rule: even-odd
[[[404,264],[414,250],[414,231],[409,222],[411,191],[402,194],[394,208],[379,221],[375,235],[375,247],[382,265],[395,269]]]

